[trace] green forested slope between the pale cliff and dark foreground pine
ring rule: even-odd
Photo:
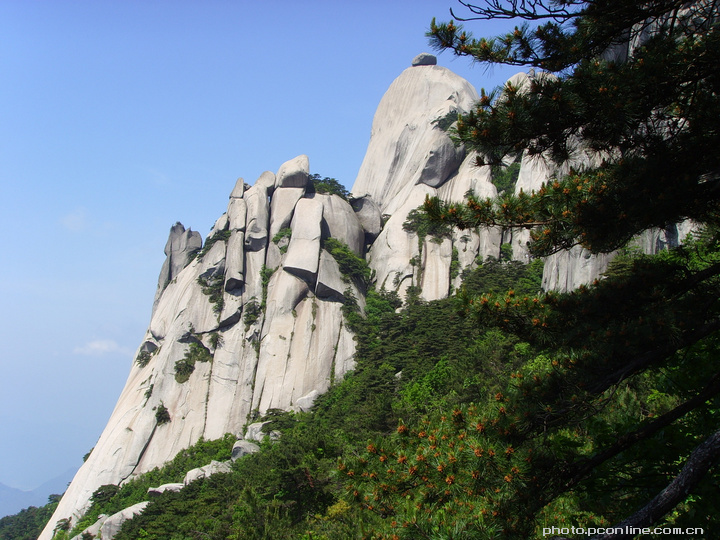
[[[365,448],[368,437],[394,431],[399,415],[412,421],[422,411],[477,396],[485,381],[498,379],[492,370],[529,354],[514,352],[517,340],[479,332],[471,318],[458,313],[453,299],[421,302],[397,313],[399,307],[397,293],[371,288],[366,316],[358,319],[357,368],[318,398],[313,414],[268,411],[266,430],[280,430],[278,441],[264,442],[259,453],[236,462],[230,475],[153,499],[117,538],[201,532],[203,538],[217,539],[333,539],[382,530],[378,515],[343,500],[344,489],[333,478],[337,459]],[[504,360],[504,354],[515,356]],[[490,358],[494,367],[478,371]],[[431,389],[422,411],[411,410],[413,400],[406,397],[413,395],[417,380]],[[165,477],[155,484],[169,481],[174,480]]]

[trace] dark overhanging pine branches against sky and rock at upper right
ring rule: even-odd
[[[720,51],[720,8],[694,2],[677,11],[670,0],[572,4],[565,6],[572,15],[494,40],[433,23],[432,40],[475,59],[557,72],[531,78],[522,91],[506,85],[496,97],[483,95],[458,121],[458,139],[486,156],[483,163],[527,149],[562,164],[578,137],[604,161],[571,169],[532,194],[433,201],[426,209],[460,226],[532,228],[536,256],[578,244],[611,252],[644,230],[685,219],[717,223],[720,133],[709,119],[720,116],[720,80],[709,59]],[[641,35],[651,19],[657,26]],[[629,58],[601,57],[635,37],[642,46]]]

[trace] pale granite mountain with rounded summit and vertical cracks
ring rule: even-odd
[[[469,82],[421,54],[378,106],[349,200],[313,189],[302,155],[252,186],[242,178],[230,186],[227,211],[204,242],[179,223],[171,228],[150,324],[125,387],[41,539],[52,537],[58,520],[77,520],[99,486],[147,472],[201,437],[233,433],[251,441],[244,428],[256,416],[306,410],[353,369],[342,306],[352,295],[362,308],[363,290],[324,248],[328,239],[365,258],[376,287],[401,298],[411,287],[425,300],[448,296],[463,269],[499,258],[503,244],[527,259],[526,232],[430,238],[404,226],[427,196],[497,195],[490,167],[477,167],[476,156],[447,133],[477,100]],[[537,189],[553,172],[524,158],[516,189]],[[647,249],[677,236],[657,233]],[[545,286],[571,289],[597,277],[608,260],[579,249],[554,256]]]

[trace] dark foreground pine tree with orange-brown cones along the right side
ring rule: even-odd
[[[663,523],[709,534],[720,526],[720,5],[461,4],[466,20],[524,24],[475,39],[433,21],[437,48],[535,70],[522,86],[483,91],[458,119],[455,136],[478,166],[521,152],[555,165],[578,152],[594,159],[537,192],[431,199],[426,212],[461,228],[528,228],[535,256],[576,245],[626,253],[572,293],[466,295],[481,324],[541,354],[508,370],[505,391],[368,445],[341,465],[348,489],[392,520],[387,537]],[[697,231],[683,246],[628,249],[642,231],[682,220]]]

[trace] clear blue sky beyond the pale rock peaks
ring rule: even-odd
[[[82,463],[170,226],[299,154],[352,186],[375,108],[455,0],[0,0],[0,482]],[[494,35],[488,23],[469,23]],[[438,63],[478,90],[487,71]]]

